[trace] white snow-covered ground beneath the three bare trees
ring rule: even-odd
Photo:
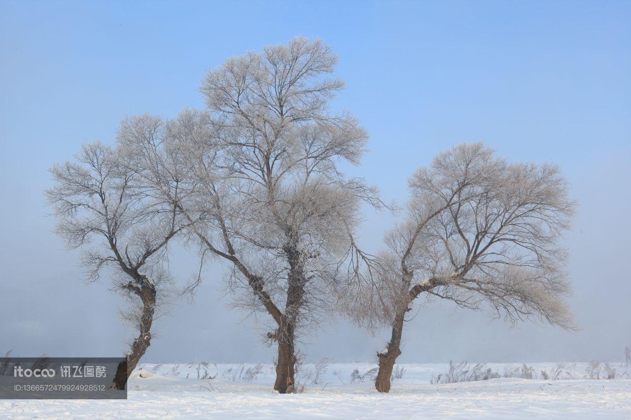
[[[586,363],[565,363],[560,370],[556,363],[529,363],[538,379],[436,385],[430,383],[432,378],[445,373],[449,365],[404,364],[399,366],[405,368],[403,378],[394,380],[390,394],[377,393],[370,375],[363,382],[357,378],[376,365],[303,365],[299,378],[305,392],[279,395],[272,392],[272,365],[147,364],[130,380],[127,400],[3,400],[0,418],[631,419],[627,373],[627,368],[631,373],[631,365],[610,365],[618,379],[586,379]],[[521,365],[497,363],[486,367],[500,375],[521,369]],[[215,378],[198,379],[198,369],[199,376],[208,371]],[[541,370],[548,375],[560,372],[564,379],[541,379]]]

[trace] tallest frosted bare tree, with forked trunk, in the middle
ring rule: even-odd
[[[357,259],[367,258],[353,240],[362,201],[380,204],[362,179],[339,170],[339,161],[359,162],[367,133],[329,110],[344,86],[326,77],[336,62],[329,47],[300,37],[233,57],[203,80],[206,112],[165,122],[143,115],[119,131],[153,183],[172,183],[164,179],[173,161],[191,169],[178,209],[204,257],[232,267],[235,305],[273,320],[267,337],[278,342],[281,393],[295,391],[298,330],[329,315]]]

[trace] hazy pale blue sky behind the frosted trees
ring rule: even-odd
[[[78,254],[50,233],[47,168],[85,141],[112,141],[126,114],[202,107],[205,69],[305,35],[339,54],[346,90],[335,106],[351,110],[371,136],[363,165],[349,171],[384,198],[404,201],[406,177],[440,150],[483,140],[513,160],[560,163],[581,204],[567,238],[581,332],[508,329],[437,303],[423,309],[433,327],[410,325],[407,346],[416,353],[403,357],[622,357],[631,344],[629,16],[623,1],[0,0],[0,342],[24,356],[124,349],[129,331],[115,310],[122,298],[107,284],[82,284]],[[379,245],[388,223],[367,214],[368,247]],[[174,265],[186,277],[194,263],[182,253]],[[148,358],[271,358],[216,284],[201,293],[160,320]],[[220,317],[228,327],[213,321]],[[232,347],[213,348],[217,335],[232,337]],[[348,337],[362,344],[346,344]],[[384,337],[332,324],[304,350],[336,357],[329,349],[342,345],[339,361],[368,360]],[[182,339],[191,344],[182,348]]]

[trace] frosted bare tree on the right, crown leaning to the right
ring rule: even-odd
[[[410,178],[404,220],[387,233],[369,283],[352,289],[356,318],[386,321],[375,387],[390,390],[404,317],[419,296],[487,308],[512,322],[572,328],[558,238],[575,203],[557,166],[508,163],[481,143],[460,144]]]

